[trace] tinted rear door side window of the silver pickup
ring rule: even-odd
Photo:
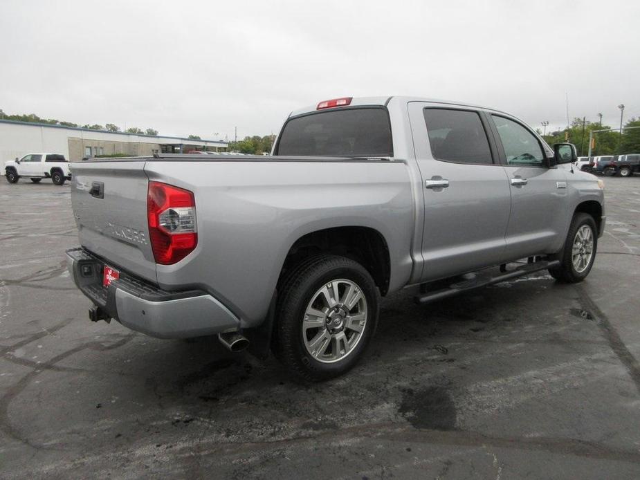
[[[424,109],[433,157],[457,163],[493,163],[491,149],[477,112]]]

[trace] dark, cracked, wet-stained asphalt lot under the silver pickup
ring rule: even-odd
[[[605,178],[587,281],[383,301],[317,385],[215,339],[87,320],[68,183],[0,178],[0,477],[640,477],[640,177]]]

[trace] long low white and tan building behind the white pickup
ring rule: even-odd
[[[185,153],[189,150],[224,151],[217,140],[136,135],[135,133],[82,129],[44,123],[0,120],[0,165],[34,151],[64,154],[77,162],[84,157],[125,154]]]

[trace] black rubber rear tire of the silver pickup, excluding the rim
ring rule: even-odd
[[[350,281],[360,289],[365,299],[366,323],[351,351],[341,359],[325,362],[309,353],[303,340],[302,322],[307,306],[318,290],[338,279]],[[378,303],[378,289],[374,280],[356,261],[335,255],[320,255],[304,261],[286,277],[279,290],[274,339],[277,358],[292,373],[305,380],[328,380],[342,375],[360,360],[373,337],[378,323]],[[319,327],[318,333],[322,333],[323,328]],[[326,328],[324,330],[329,331]],[[333,351],[333,344],[327,346],[329,351]]]

